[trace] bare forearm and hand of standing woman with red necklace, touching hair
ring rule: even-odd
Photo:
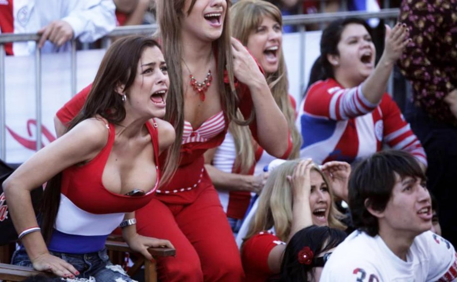
[[[231,39],[236,79],[249,89],[256,115],[253,136],[270,155],[283,157],[290,151],[290,134],[284,114],[276,105],[270,88],[255,59],[236,39]],[[244,113],[243,113],[244,114]]]

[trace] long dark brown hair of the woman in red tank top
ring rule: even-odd
[[[81,111],[70,121],[67,131],[79,122],[102,116],[108,122],[119,124],[125,118],[122,96],[116,92],[119,85],[128,90],[137,75],[138,62],[148,47],[158,47],[149,36],[128,36],[114,42],[106,51],[95,76],[92,88]],[[128,95],[128,91],[126,91]],[[42,232],[49,242],[59,211],[62,172],[46,185],[41,204]]]

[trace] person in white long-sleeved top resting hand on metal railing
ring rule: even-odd
[[[5,45],[6,55],[71,50],[70,40],[94,42],[116,27],[113,0],[0,0],[0,34],[37,33],[40,40]]]

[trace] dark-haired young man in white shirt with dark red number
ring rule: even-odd
[[[321,282],[457,281],[456,252],[430,231],[425,174],[403,151],[366,159],[349,181],[356,231],[332,253]]]

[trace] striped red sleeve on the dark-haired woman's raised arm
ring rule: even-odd
[[[306,95],[304,111],[333,120],[347,120],[370,113],[378,105],[365,98],[362,84],[354,88],[342,88],[336,81],[327,79],[311,86]]]

